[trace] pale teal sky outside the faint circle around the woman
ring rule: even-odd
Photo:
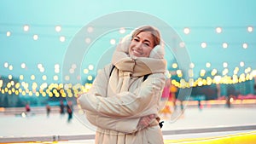
[[[90,21],[106,14],[121,11],[137,11],[152,14],[166,23],[177,32],[186,44],[190,60],[195,64],[195,77],[201,69],[218,69],[222,72],[223,63],[228,63],[229,75],[233,75],[236,66],[241,72],[247,67],[256,70],[256,1],[205,1],[205,0],[166,0],[166,1],[32,1],[32,0],[2,0],[0,1],[0,75],[13,75],[30,78],[36,76],[38,82],[53,82],[55,64],[62,64],[69,43],[77,32]],[[130,18],[132,20],[132,18]],[[117,18],[118,20],[118,18]],[[28,25],[29,31],[24,32],[23,26]],[[55,31],[55,26],[61,26],[61,32]],[[216,27],[222,32],[217,33]],[[253,32],[247,27],[252,26]],[[183,29],[189,27],[189,34]],[[7,32],[11,35],[7,37]],[[33,40],[38,35],[38,40]],[[64,42],[60,37],[66,37]],[[119,39],[111,35],[102,39],[105,48],[113,45],[110,39]],[[207,43],[207,48],[201,48],[201,43]],[[228,43],[228,48],[222,47]],[[242,47],[247,43],[247,49]],[[101,47],[98,43],[98,47]],[[86,61],[96,65],[97,57],[105,50],[96,48]],[[75,56],[75,55],[74,55]],[[169,56],[169,55],[166,55]],[[171,57],[172,55],[170,55]],[[91,62],[90,62],[91,61]],[[240,66],[243,61],[245,66]],[[4,63],[13,66],[13,70],[4,67]],[[170,64],[172,61],[168,61]],[[211,67],[206,67],[210,62]],[[21,63],[26,68],[20,67]],[[38,64],[44,66],[45,71],[39,72]],[[84,64],[86,68],[87,64]],[[59,78],[61,79],[61,78]]]

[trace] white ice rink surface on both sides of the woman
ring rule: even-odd
[[[188,108],[176,121],[165,118],[163,131],[167,130],[193,130],[199,128],[216,128],[223,126],[256,125],[256,107],[212,107],[199,110]],[[250,130],[247,130],[250,131]],[[252,130],[251,130],[252,131]],[[216,135],[230,135],[243,131],[224,131],[199,134],[164,135],[166,140],[177,140],[184,138],[208,137]],[[49,135],[93,135],[93,127],[80,123],[74,117],[71,123],[67,123],[67,114],[46,113],[21,117],[0,113],[0,136],[49,136]],[[0,137],[0,142],[1,142]],[[63,143],[93,143],[93,140],[63,141]]]

